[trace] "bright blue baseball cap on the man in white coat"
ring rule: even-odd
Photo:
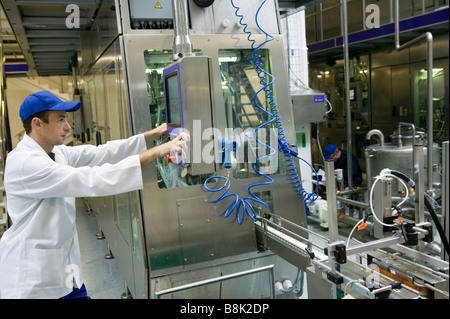
[[[49,91],[40,91],[27,96],[20,106],[19,115],[25,123],[34,114],[45,110],[75,112],[80,107],[79,101],[65,102]]]

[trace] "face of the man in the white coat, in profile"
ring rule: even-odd
[[[42,138],[50,145],[61,145],[72,130],[64,111],[50,111],[48,123],[42,123]]]

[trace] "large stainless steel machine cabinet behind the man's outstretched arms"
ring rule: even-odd
[[[263,43],[266,35],[255,24],[255,3],[235,1],[238,14],[248,16],[247,30]],[[169,16],[160,17],[159,10]],[[273,295],[272,281],[295,277],[294,266],[272,252],[260,251],[252,220],[255,215],[277,214],[306,226],[304,204],[290,187],[277,136],[270,140],[271,134],[262,134],[274,132],[275,124],[253,135],[269,121],[271,104],[264,92],[254,100],[260,79],[252,63],[252,43],[236,11],[230,1],[208,7],[193,1],[173,1],[173,6],[171,1],[104,1],[96,27],[86,37],[90,43],[82,45],[84,139],[105,143],[166,120],[170,127],[176,119],[178,124],[183,119],[183,128],[192,138],[188,166],[160,159],[144,170],[142,191],[87,199],[98,219],[99,236],[108,240],[108,256],[117,259],[133,298],[267,298]],[[277,97],[286,139],[293,141],[276,1],[264,4],[259,20],[273,41],[261,48],[258,61],[276,78],[271,91]],[[178,77],[175,97],[170,88],[174,74]],[[174,112],[180,105],[181,112]],[[263,139],[272,144],[274,154],[252,163],[249,157],[269,154]],[[230,141],[234,150],[220,140]],[[252,164],[273,182],[264,184],[268,178],[256,173]],[[298,169],[298,163],[293,165]],[[214,203],[222,191],[208,192],[205,186],[217,190],[224,178],[230,185],[228,194],[236,197]],[[246,199],[252,185],[257,200]],[[245,203],[227,210],[237,197]],[[270,268],[272,276],[264,268],[271,265],[275,265]],[[163,293],[255,269],[261,270],[236,280]]]

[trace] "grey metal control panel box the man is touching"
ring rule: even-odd
[[[191,175],[215,171],[213,157],[204,153],[214,152],[214,137],[202,136],[203,130],[213,127],[210,60],[186,56],[163,71],[167,133],[174,138],[187,131],[191,136],[186,160],[170,154],[168,161],[187,168]]]

